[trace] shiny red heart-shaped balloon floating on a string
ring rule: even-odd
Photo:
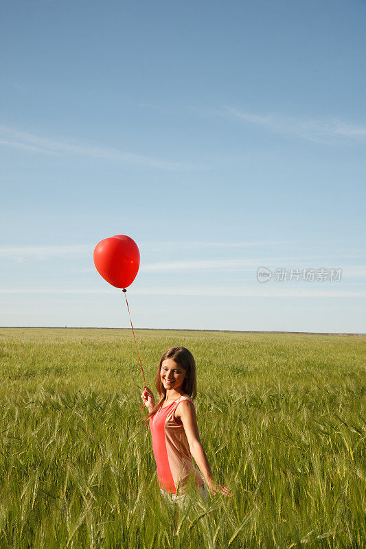
[[[115,235],[98,242],[94,265],[101,277],[115,288],[127,288],[135,280],[140,266],[137,244],[126,235]]]

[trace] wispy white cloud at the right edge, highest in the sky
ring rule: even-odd
[[[258,115],[233,107],[225,108],[225,115],[275,133],[297,135],[309,141],[326,143],[330,139],[366,138],[366,126],[353,126],[339,119],[299,119],[272,114]]]

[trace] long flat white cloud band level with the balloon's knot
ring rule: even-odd
[[[154,286],[152,288],[133,288],[130,295],[155,295],[155,296],[203,296],[203,297],[300,297],[300,298],[351,298],[366,297],[366,291],[343,290],[340,286],[336,288],[291,288],[279,283],[275,286],[264,286],[259,284],[251,288],[217,288],[213,287],[192,287],[192,288],[165,288]],[[115,296],[121,292],[116,288],[0,288],[0,294],[108,294]]]

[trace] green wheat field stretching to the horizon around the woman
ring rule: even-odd
[[[192,351],[232,498],[161,500],[129,330],[2,328],[1,549],[366,547],[366,338],[136,336],[154,392],[163,351]]]

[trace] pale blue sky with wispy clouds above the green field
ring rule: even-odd
[[[4,4],[0,325],[128,327],[93,266],[126,234],[137,327],[365,332],[365,23],[361,0]]]

